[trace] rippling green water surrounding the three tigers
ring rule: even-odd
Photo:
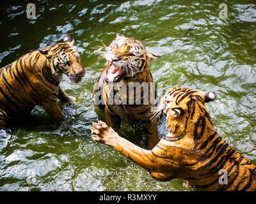
[[[218,16],[220,3],[227,3],[227,19]],[[256,164],[255,1],[45,0],[36,3],[35,19],[26,18],[26,4],[0,3],[0,66],[70,33],[82,65],[90,69],[77,85],[63,77],[61,87],[76,99],[75,105],[60,104],[65,121],[54,122],[36,106],[31,117],[0,131],[0,191],[196,190],[181,179],[157,182],[113,148],[92,140],[92,122],[103,115],[93,104],[93,84],[106,62],[98,61],[94,48],[109,45],[116,33],[161,55],[150,62],[154,81],[163,84],[157,91],[175,85],[216,91],[216,101],[207,104],[216,131]],[[164,118],[158,128],[160,137],[166,134]],[[122,122],[121,131],[147,147],[140,124]]]

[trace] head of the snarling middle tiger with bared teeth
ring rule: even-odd
[[[144,45],[133,38],[116,34],[109,47],[100,52],[108,61],[105,82],[119,82],[122,78],[136,77],[148,67],[157,55],[147,52]]]

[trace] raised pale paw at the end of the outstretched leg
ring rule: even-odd
[[[109,128],[105,122],[100,120],[99,122],[93,122],[91,130],[93,140],[106,145],[113,145],[115,138],[119,136],[112,128]]]

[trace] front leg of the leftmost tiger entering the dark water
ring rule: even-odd
[[[52,101],[43,101],[42,106],[44,110],[51,115],[52,119],[56,121],[61,121],[64,119],[64,115],[56,103]]]

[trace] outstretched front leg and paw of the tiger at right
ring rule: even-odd
[[[168,159],[161,159],[155,156],[152,150],[142,149],[125,140],[105,122],[93,122],[91,130],[93,140],[114,147],[118,152],[145,168],[154,179],[159,181],[173,179],[175,167],[168,162]]]

